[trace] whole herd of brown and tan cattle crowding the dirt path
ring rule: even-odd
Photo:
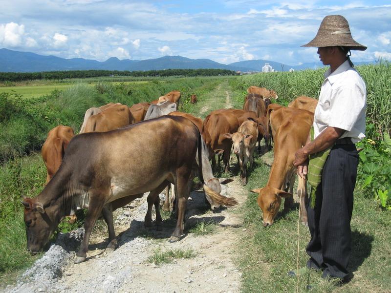
[[[261,150],[262,138],[268,148],[273,140],[274,163],[266,186],[251,191],[259,194],[263,226],[272,225],[282,197],[284,210],[293,203],[294,153],[306,142],[317,100],[300,96],[283,107],[271,103],[271,98],[278,98],[274,90],[250,86],[247,91],[243,109],[214,110],[203,121],[177,111],[181,95],[171,91],[151,103],[89,108],[78,135],[68,126],[50,130],[42,148],[46,186],[36,198],[23,199],[29,251],[41,251],[60,221],[77,209],[87,209],[87,216],[75,263],[86,260],[89,236],[100,216],[108,225],[107,250],[114,250],[117,241],[112,211],[145,192],[150,192],[145,226],[152,225],[154,206],[155,225],[160,230],[158,195],[164,188],[164,210],[170,210],[175,198],[177,223],[170,242],[178,241],[193,177],[199,177],[212,209],[236,205],[234,198],[220,195],[221,184],[232,180],[214,177],[216,156],[218,167],[222,156],[224,170],[229,171],[233,147],[245,185],[247,162],[252,168],[256,145],[258,142]],[[191,102],[197,102],[195,95]],[[168,196],[170,184],[175,191],[172,198]],[[298,193],[306,196],[305,186],[299,180]],[[300,216],[306,223],[305,209]]]

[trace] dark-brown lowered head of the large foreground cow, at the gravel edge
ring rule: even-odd
[[[43,204],[36,199],[24,198],[24,224],[26,225],[27,249],[36,254],[42,251],[50,234],[57,225],[47,215]],[[58,224],[58,223],[57,223]]]

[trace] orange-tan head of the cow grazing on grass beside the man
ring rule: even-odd
[[[263,213],[263,227],[271,226],[281,206],[282,197],[292,196],[291,193],[266,186],[250,190],[258,193],[258,205]]]

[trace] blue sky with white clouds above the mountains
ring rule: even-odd
[[[353,62],[391,60],[390,1],[0,0],[0,7],[0,48],[62,58],[319,62],[316,48],[300,46],[326,15],[340,14],[368,46],[352,52]]]

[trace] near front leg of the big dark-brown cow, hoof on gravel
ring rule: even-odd
[[[84,262],[87,258],[89,236],[91,235],[92,228],[95,226],[96,219],[102,212],[104,204],[103,198],[103,194],[90,196],[86,221],[84,223],[84,237],[82,243],[80,244],[79,251],[76,253],[76,258],[74,260],[75,264]]]

